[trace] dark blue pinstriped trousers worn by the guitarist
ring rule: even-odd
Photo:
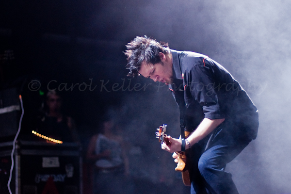
[[[225,171],[231,162],[251,142],[223,125],[198,142],[190,150],[192,161],[191,194],[238,194],[231,174]]]

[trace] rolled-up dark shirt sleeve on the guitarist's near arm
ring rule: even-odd
[[[214,72],[210,67],[195,65],[187,74],[187,88],[192,97],[202,106],[204,117],[209,119],[225,118],[214,90]]]

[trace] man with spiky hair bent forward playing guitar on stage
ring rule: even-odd
[[[169,85],[180,109],[181,138],[165,137],[162,149],[187,150],[192,194],[238,194],[225,171],[244,147],[256,139],[258,110],[241,85],[208,56],[169,49],[168,44],[137,36],[128,43],[129,76]],[[197,125],[197,127],[194,127]]]

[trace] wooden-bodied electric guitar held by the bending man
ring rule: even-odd
[[[167,135],[165,134],[166,128],[167,128],[167,125],[160,126],[160,128],[157,129],[158,131],[156,132],[156,138],[159,139],[159,142],[161,144],[164,142],[166,145],[170,145],[171,143],[169,142]],[[189,169],[189,166],[187,165],[187,157],[186,157],[187,150],[185,152],[179,151],[175,153],[178,155],[178,163],[175,170],[182,173],[182,179],[183,179],[184,185],[191,186],[190,173],[189,173],[190,169]]]

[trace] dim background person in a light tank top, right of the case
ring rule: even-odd
[[[123,138],[113,129],[113,121],[104,121],[102,132],[92,136],[87,149],[87,160],[95,163],[94,194],[128,193],[129,161]]]

